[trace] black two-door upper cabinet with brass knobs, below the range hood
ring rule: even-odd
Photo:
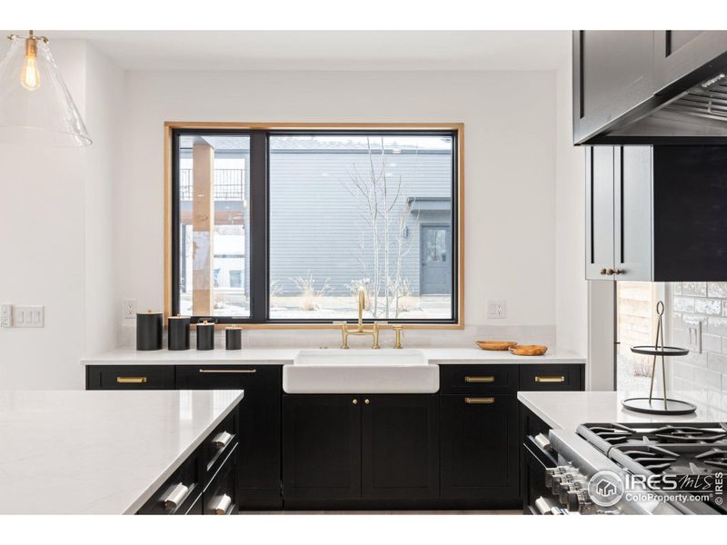
[[[586,278],[727,278],[727,147],[586,148]]]

